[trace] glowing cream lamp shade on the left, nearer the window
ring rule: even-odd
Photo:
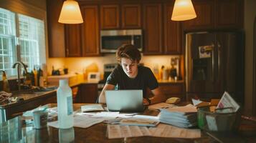
[[[60,12],[59,22],[62,24],[81,24],[83,22],[82,14],[77,1],[64,1],[62,11]]]

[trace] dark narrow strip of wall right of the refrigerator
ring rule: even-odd
[[[253,23],[256,1],[245,0],[245,114],[252,114]]]

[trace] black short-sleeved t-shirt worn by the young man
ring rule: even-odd
[[[138,66],[138,74],[134,79],[129,78],[118,65],[108,76],[106,84],[118,85],[118,89],[143,89],[143,97],[148,98],[146,89],[151,90],[158,87],[156,77],[153,75],[151,69],[146,66]]]

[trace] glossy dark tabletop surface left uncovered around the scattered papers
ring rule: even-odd
[[[83,104],[73,104],[77,111]],[[56,104],[50,104],[54,107]],[[158,111],[146,109],[143,115],[157,116]],[[0,142],[256,142],[256,123],[243,119],[237,132],[205,132],[196,139],[169,138],[169,137],[128,137],[120,139],[108,139],[106,137],[108,124],[99,123],[92,127],[70,129],[57,129],[47,127],[34,129],[32,124],[24,124],[22,117],[15,117],[8,122],[0,124]],[[61,141],[62,140],[62,141]]]

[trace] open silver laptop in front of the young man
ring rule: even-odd
[[[107,90],[106,104],[109,111],[143,112],[142,90]]]

